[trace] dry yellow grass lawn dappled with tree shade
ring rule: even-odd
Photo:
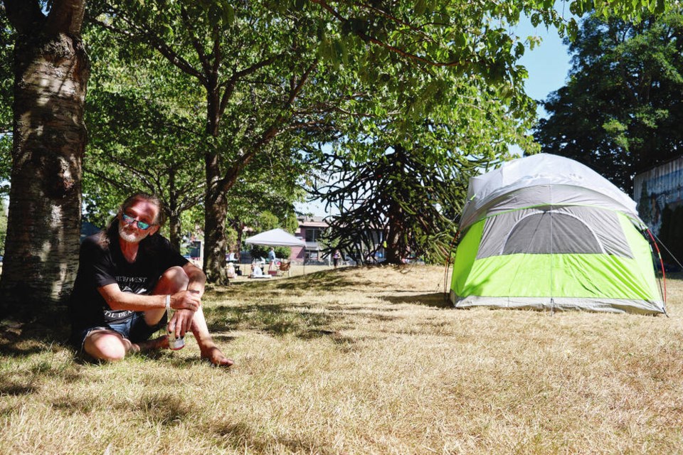
[[[0,338],[2,454],[683,453],[669,318],[457,311],[443,269],[346,268],[207,294],[230,371]]]

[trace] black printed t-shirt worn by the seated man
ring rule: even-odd
[[[116,228],[110,230],[110,241],[102,242],[102,232],[86,237],[80,245],[78,274],[71,293],[69,312],[72,331],[122,322],[133,311],[112,311],[97,288],[116,283],[124,292],[149,294],[159,277],[174,266],[188,261],[171,247],[161,235],[140,242],[135,262],[128,262],[121,252]]]

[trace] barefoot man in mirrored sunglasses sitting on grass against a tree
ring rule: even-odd
[[[201,310],[206,275],[176,252],[157,231],[161,201],[137,193],[121,205],[106,231],[83,240],[69,304],[70,343],[97,360],[169,347],[168,336],[149,337],[168,321],[176,337],[192,331],[201,358],[230,366],[213,343]]]

